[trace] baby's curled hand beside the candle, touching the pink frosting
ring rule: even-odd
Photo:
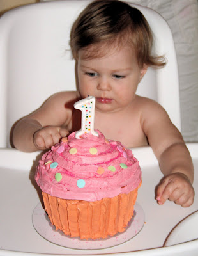
[[[57,126],[43,127],[34,133],[33,143],[39,150],[47,149],[58,143],[68,133],[67,129]]]

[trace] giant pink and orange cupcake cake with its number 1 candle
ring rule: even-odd
[[[80,101],[83,107],[94,102]],[[105,238],[123,232],[131,220],[141,169],[131,150],[89,129],[91,114],[85,115],[85,129],[43,154],[35,179],[56,230],[80,239]]]

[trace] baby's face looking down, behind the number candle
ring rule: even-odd
[[[113,47],[100,58],[84,58],[79,51],[78,78],[82,97],[96,97],[96,110],[115,112],[133,103],[137,85],[146,73],[129,47]]]

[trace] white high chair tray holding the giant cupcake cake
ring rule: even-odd
[[[137,203],[144,211],[144,225],[137,236],[125,243],[100,250],[76,250],[50,243],[36,232],[32,216],[41,202],[40,188],[34,181],[34,172],[41,152],[24,153],[12,148],[0,148],[0,256],[2,255],[197,255],[198,234],[191,225],[185,225],[183,236],[170,245],[174,228],[198,210],[198,143],[187,145],[195,168],[195,200],[183,208],[173,202],[158,205],[155,187],[163,175],[150,147],[134,148],[142,170],[142,186]],[[195,214],[197,215],[197,214]],[[184,221],[186,223],[187,221]],[[188,234],[194,231],[193,240]],[[56,231],[54,231],[56,232]],[[171,236],[172,232],[172,236]],[[191,241],[188,241],[191,240]],[[174,239],[172,239],[174,241]],[[72,238],[71,238],[72,243]],[[187,254],[185,254],[187,253]]]

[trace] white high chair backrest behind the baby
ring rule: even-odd
[[[0,147],[10,147],[12,125],[61,90],[75,90],[75,61],[70,54],[70,28],[90,1],[50,1],[29,4],[0,19]],[[154,10],[132,4],[148,20],[155,38],[153,52],[167,65],[149,68],[137,94],[166,109],[180,129],[179,84],[172,33]]]

